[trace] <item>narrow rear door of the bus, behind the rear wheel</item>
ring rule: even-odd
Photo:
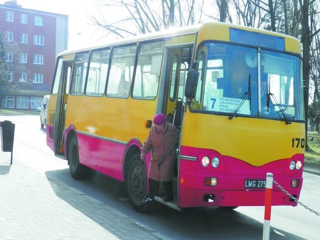
[[[54,114],[54,153],[64,153],[64,120],[73,61],[63,61]]]

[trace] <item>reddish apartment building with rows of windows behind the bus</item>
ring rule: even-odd
[[[51,88],[55,56],[67,48],[68,15],[22,8],[16,0],[0,4],[0,32],[3,40],[16,42],[19,62],[25,72],[12,74],[19,81],[30,80],[23,89],[10,89],[2,101],[2,107],[35,108],[43,95]],[[13,54],[6,51],[5,60]]]

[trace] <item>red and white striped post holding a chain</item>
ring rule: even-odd
[[[271,218],[271,199],[272,199],[273,174],[266,173],[265,183],[265,203],[264,203],[264,223],[263,240],[268,240],[270,236],[270,218]]]

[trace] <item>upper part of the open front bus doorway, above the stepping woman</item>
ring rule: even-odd
[[[166,113],[168,122],[180,129],[185,103],[184,82],[189,69],[192,47],[168,49],[168,63],[166,79],[168,89],[166,98]]]

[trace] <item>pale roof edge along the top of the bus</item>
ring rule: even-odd
[[[231,23],[224,23],[224,22],[204,22],[204,23],[190,25],[190,26],[170,27],[170,28],[165,29],[163,31],[146,33],[146,34],[136,35],[136,36],[132,36],[132,37],[125,37],[125,38],[121,38],[121,39],[117,39],[117,40],[113,40],[113,41],[106,41],[105,43],[92,45],[92,46],[86,46],[83,48],[70,49],[70,50],[66,49],[66,50],[63,50],[60,53],[58,53],[57,56],[70,54],[70,53],[76,53],[79,51],[98,49],[98,48],[107,47],[107,46],[114,46],[114,45],[121,45],[121,44],[127,44],[127,43],[132,43],[132,42],[139,42],[142,40],[152,40],[152,39],[163,38],[163,37],[191,34],[191,33],[195,33],[197,31],[199,31],[201,28],[207,28],[210,26],[233,27],[233,28],[247,30],[247,31],[253,31],[253,32],[259,32],[259,33],[264,33],[264,34],[271,34],[271,35],[279,36],[279,37],[290,38],[291,40],[299,42],[299,40],[293,36],[285,35],[285,34],[278,33],[278,32],[273,32],[273,31],[269,31],[269,30],[264,30],[264,29],[249,27],[249,26],[241,26],[241,25],[236,25],[236,24],[231,24]]]

